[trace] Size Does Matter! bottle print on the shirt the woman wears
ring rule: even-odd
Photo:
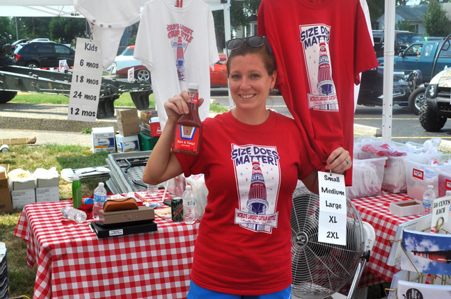
[[[232,145],[239,201],[239,209],[235,209],[236,225],[269,234],[277,227],[278,159],[276,147]]]

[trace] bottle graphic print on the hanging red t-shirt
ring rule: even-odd
[[[308,108],[338,111],[337,92],[332,79],[329,56],[330,26],[311,24],[299,26],[310,92]]]

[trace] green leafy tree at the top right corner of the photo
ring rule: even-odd
[[[422,17],[428,36],[446,36],[451,31],[450,19],[446,16],[437,0],[429,1],[425,15]]]

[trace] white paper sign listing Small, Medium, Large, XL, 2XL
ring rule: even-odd
[[[345,177],[318,172],[319,227],[318,241],[346,245],[346,189]]]

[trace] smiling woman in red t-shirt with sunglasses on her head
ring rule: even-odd
[[[194,249],[188,298],[290,298],[292,193],[298,179],[317,193],[317,170],[294,120],[266,108],[276,83],[264,36],[229,40],[230,94],[236,108],[207,118],[196,156],[171,152],[175,122],[188,113],[186,91],[164,104],[168,122],[145,167],[159,184],[203,173],[209,191]],[[199,99],[202,104],[203,99]],[[335,149],[326,170],[351,168]]]

